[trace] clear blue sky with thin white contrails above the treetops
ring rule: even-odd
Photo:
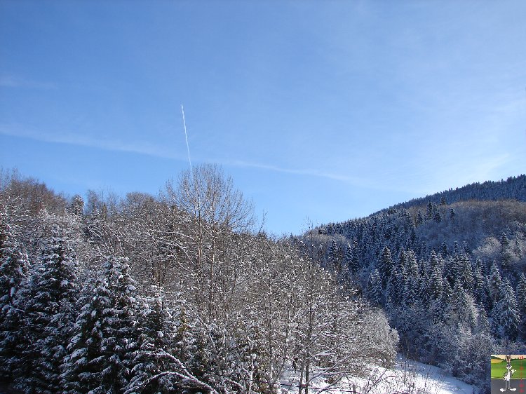
[[[526,172],[526,1],[0,0],[0,165],[70,196],[191,159],[272,233]]]

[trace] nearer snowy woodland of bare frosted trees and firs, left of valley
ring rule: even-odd
[[[217,166],[159,196],[87,195],[1,173],[0,380],[11,388],[278,393],[286,370],[308,393],[320,375],[393,365],[384,301],[311,253],[318,234],[260,231]]]

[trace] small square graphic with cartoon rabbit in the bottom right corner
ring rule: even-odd
[[[525,355],[492,355],[491,357],[491,392],[505,391],[525,393]]]

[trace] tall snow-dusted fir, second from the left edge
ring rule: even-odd
[[[22,334],[25,348],[15,367],[16,386],[37,393],[60,390],[60,365],[75,320],[78,292],[76,254],[62,230],[53,225],[43,240],[41,261],[25,290]]]

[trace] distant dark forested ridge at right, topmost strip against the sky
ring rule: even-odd
[[[393,208],[410,208],[417,205],[426,204],[429,201],[438,204],[440,201],[447,201],[447,203],[457,203],[459,201],[468,200],[526,201],[526,175],[508,177],[508,179],[500,180],[498,182],[476,182],[466,186],[457,187],[456,189],[440,191],[439,193],[435,193],[431,196],[414,198],[413,200],[406,201],[405,203],[396,204],[393,206]]]

